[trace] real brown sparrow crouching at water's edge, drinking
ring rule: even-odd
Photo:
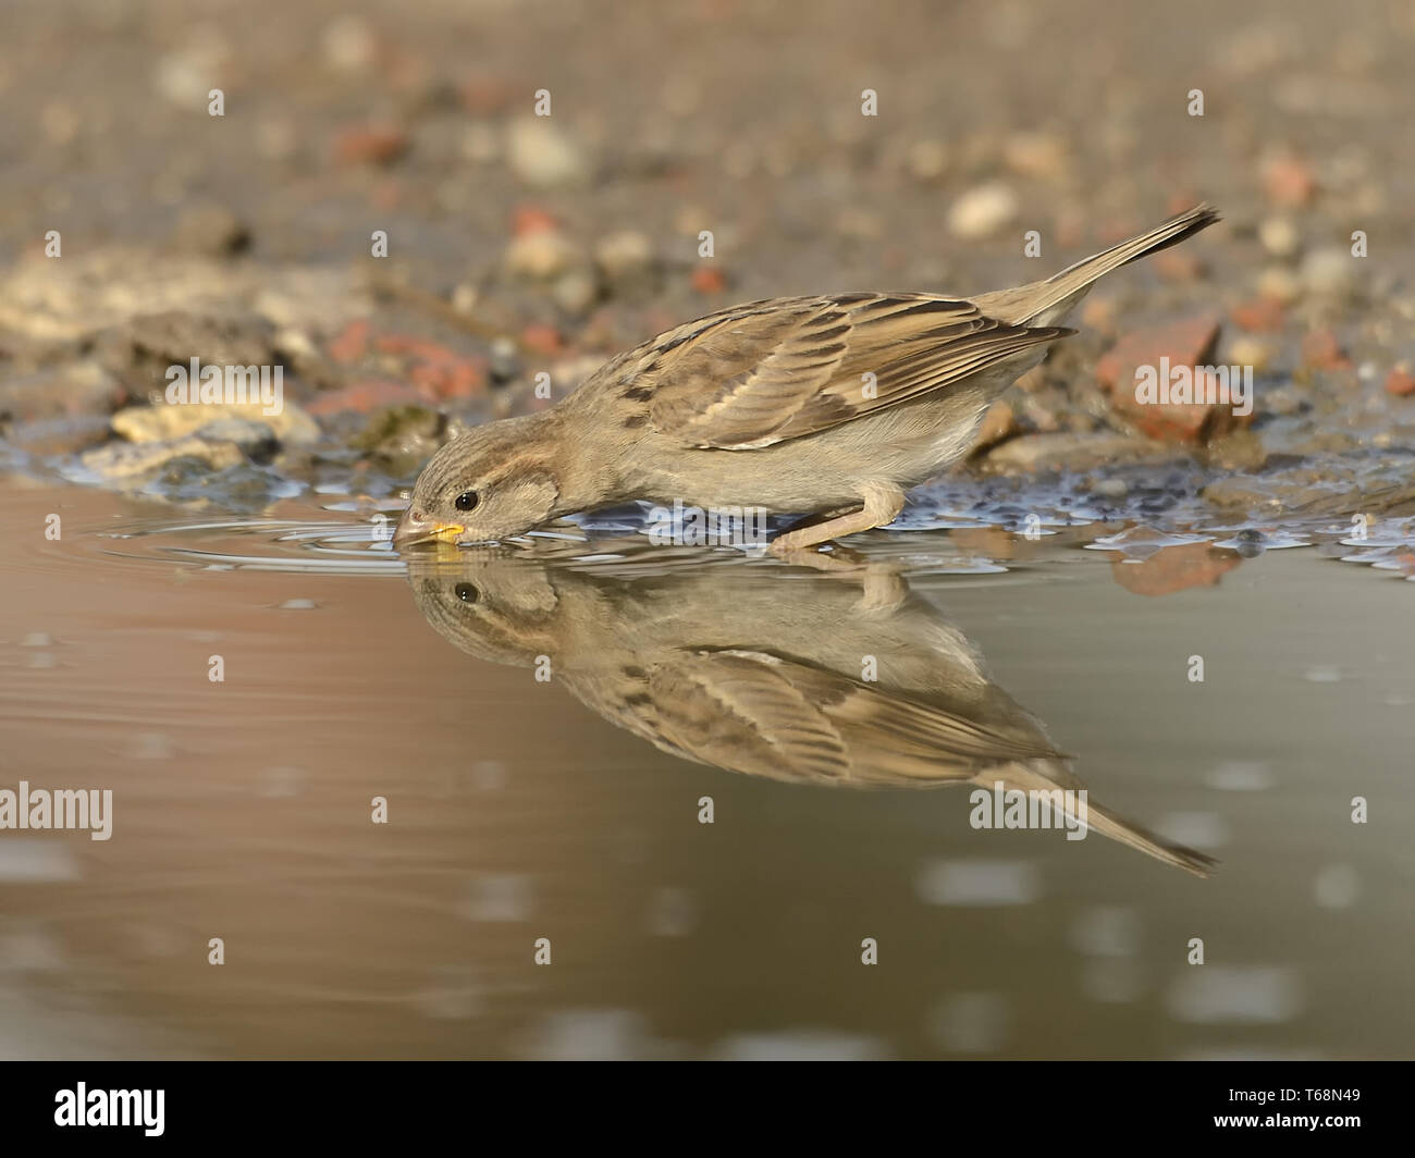
[[[596,371],[549,411],[480,426],[423,469],[395,544],[485,542],[630,500],[811,518],[788,555],[891,522],[989,403],[1075,333],[1112,269],[1218,219],[1208,205],[1044,282],[972,299],[839,293],[733,306]]]

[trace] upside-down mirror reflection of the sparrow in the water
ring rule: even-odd
[[[683,760],[828,787],[1084,789],[1041,723],[896,573],[897,597],[883,602],[862,596],[859,569],[715,566],[713,552],[642,538],[599,546],[617,558],[577,561],[579,545],[543,539],[516,554],[420,552],[408,582],[454,647],[549,664],[610,723]],[[1213,865],[1094,801],[1081,818],[1199,876]]]

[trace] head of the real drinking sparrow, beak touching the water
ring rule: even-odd
[[[441,447],[417,476],[393,544],[491,542],[555,518],[559,484],[538,433],[528,419],[507,419]]]

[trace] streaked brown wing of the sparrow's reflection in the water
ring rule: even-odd
[[[623,692],[591,706],[675,756],[775,780],[927,787],[1058,755],[1040,733],[998,732],[761,651],[679,651]]]

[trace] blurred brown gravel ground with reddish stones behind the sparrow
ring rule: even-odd
[[[1240,518],[1415,512],[1408,4],[8,20],[0,469],[222,510],[383,500],[685,319],[1032,280],[1207,200],[1224,222],[1098,287],[964,470],[1122,511],[1179,480]],[[1128,405],[1160,354],[1252,367],[1254,413]],[[284,411],[164,416],[191,358],[279,367]]]

